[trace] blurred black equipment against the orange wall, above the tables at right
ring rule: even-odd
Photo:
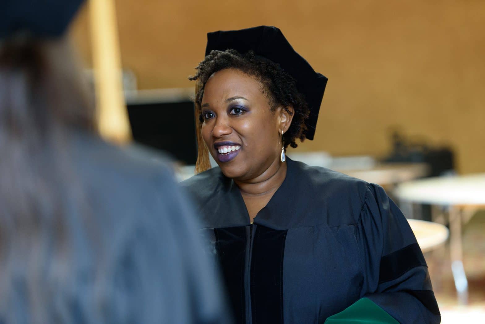
[[[399,132],[392,133],[393,151],[382,162],[427,163],[429,177],[454,173],[454,153],[449,147],[431,147],[425,143],[414,143]]]

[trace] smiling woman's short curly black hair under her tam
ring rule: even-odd
[[[296,147],[295,140],[299,138],[302,142],[305,140],[305,120],[310,111],[308,109],[305,97],[296,89],[295,80],[285,72],[278,64],[258,55],[253,51],[240,54],[234,49],[225,51],[212,50],[202,62],[196,67],[197,73],[189,77],[189,80],[199,82],[199,90],[195,94],[195,102],[200,107],[204,87],[209,77],[217,72],[227,68],[234,68],[255,77],[263,85],[263,93],[268,97],[272,111],[277,107],[293,107],[294,116],[290,128],[285,132],[284,147],[288,145]]]

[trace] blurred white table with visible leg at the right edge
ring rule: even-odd
[[[394,194],[401,205],[419,203],[449,208],[453,279],[458,300],[466,304],[468,281],[463,268],[461,227],[463,220],[469,218],[467,215],[485,208],[485,174],[409,181],[399,185]]]

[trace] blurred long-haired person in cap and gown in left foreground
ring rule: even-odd
[[[81,2],[0,4],[0,323],[227,323],[168,167],[95,133]]]

